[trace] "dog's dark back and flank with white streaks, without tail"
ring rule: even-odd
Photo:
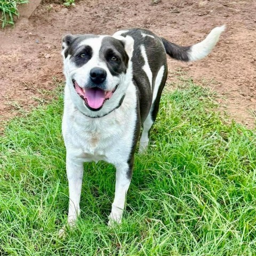
[[[143,123],[156,99],[159,86],[164,86],[167,76],[166,52],[162,39],[147,29],[132,28],[114,34],[134,39],[133,83],[137,87],[140,119]],[[162,68],[162,69],[161,69]],[[158,75],[159,70],[161,74]],[[156,77],[158,77],[156,81]],[[155,92],[155,97],[153,94]],[[155,99],[154,99],[155,98]]]

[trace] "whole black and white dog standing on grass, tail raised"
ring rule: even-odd
[[[70,225],[80,212],[83,163],[99,160],[116,167],[109,224],[121,222],[137,141],[140,137],[139,151],[143,152],[157,116],[167,77],[166,53],[182,61],[202,59],[224,29],[216,27],[202,42],[188,47],[146,29],[63,38],[66,87],[62,132],[67,149]]]

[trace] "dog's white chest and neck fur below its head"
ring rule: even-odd
[[[131,83],[122,105],[100,118],[83,115],[73,104],[65,89],[62,133],[67,153],[84,162],[124,161],[133,143],[136,122],[136,93]]]

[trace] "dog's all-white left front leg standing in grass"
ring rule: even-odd
[[[69,157],[67,154],[67,176],[69,189],[69,209],[68,209],[68,224],[75,225],[75,221],[80,214],[80,198],[82,190],[82,181],[84,167],[83,162],[77,158]]]

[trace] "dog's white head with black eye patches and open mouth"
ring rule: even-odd
[[[126,76],[131,76],[132,52],[130,36],[63,37],[66,82],[71,100],[82,113],[100,117],[118,106],[128,86]]]

